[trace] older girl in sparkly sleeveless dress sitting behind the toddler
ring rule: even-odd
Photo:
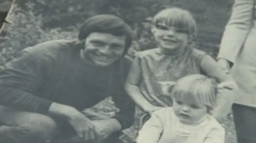
[[[190,12],[180,8],[168,8],[160,11],[152,20],[151,29],[158,47],[138,52],[133,60],[125,89],[138,105],[135,125],[124,133],[130,138],[136,136],[138,119],[142,114],[162,107],[172,106],[169,96],[164,96],[162,84],[173,82],[189,74],[205,74],[216,78],[219,83],[233,82],[205,52],[192,47],[196,37],[196,22]],[[235,84],[235,82],[234,82]],[[222,100],[218,100],[214,117],[226,116],[231,109],[233,96],[225,90]],[[224,107],[225,106],[225,107]],[[221,111],[221,112],[220,112]],[[124,136],[121,139],[125,138]]]

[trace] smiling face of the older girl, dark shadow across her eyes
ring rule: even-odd
[[[182,51],[190,42],[187,29],[178,29],[166,24],[156,24],[152,27],[151,31],[158,46],[167,54]]]

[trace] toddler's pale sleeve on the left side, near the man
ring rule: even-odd
[[[154,112],[139,131],[137,143],[157,143],[164,127],[165,109]]]

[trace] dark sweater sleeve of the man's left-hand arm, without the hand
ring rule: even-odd
[[[49,63],[42,61],[40,55],[22,50],[18,57],[0,71],[0,104],[30,112],[47,113],[52,101],[36,96],[43,74],[46,74],[46,67],[52,67],[47,64]]]

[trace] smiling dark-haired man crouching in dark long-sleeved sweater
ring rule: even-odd
[[[77,41],[22,50],[0,71],[0,142],[44,143],[57,134],[117,143],[119,131],[134,120],[134,103],[124,90],[131,43],[132,29],[122,19],[98,15],[86,20]],[[109,96],[120,109],[113,117],[80,112]]]

